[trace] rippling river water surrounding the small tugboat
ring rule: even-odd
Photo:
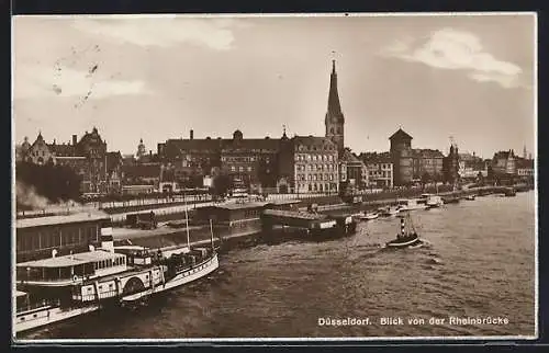
[[[206,280],[137,310],[97,312],[27,339],[183,339],[534,335],[535,192],[415,210],[428,246],[382,249],[399,219],[361,223],[355,236],[235,249]],[[450,324],[449,317],[507,323]],[[383,326],[382,317],[404,324]],[[321,326],[320,318],[369,318]],[[423,318],[425,324],[408,324]],[[429,323],[429,318],[445,322]]]

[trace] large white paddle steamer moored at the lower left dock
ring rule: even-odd
[[[212,226],[211,226],[212,230]],[[150,251],[114,247],[112,228],[101,228],[101,248],[16,264],[15,333],[141,300],[199,280],[219,267],[212,249],[190,246]]]

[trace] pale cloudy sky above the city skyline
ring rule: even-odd
[[[97,126],[109,150],[167,138],[323,135],[337,60],[352,150],[413,146],[492,157],[535,150],[535,18],[18,16],[14,137],[69,141]],[[333,54],[335,52],[335,54]]]

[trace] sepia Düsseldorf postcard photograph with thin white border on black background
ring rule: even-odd
[[[537,15],[12,18],[12,340],[538,338]]]

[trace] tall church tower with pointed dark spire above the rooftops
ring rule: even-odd
[[[337,93],[337,73],[336,60],[332,60],[332,75],[329,76],[328,111],[324,119],[326,126],[326,137],[332,139],[339,150],[344,150],[344,125],[345,117],[339,104],[339,94]]]

